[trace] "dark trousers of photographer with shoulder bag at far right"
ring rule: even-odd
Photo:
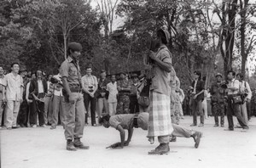
[[[236,115],[236,118],[242,128],[248,128],[246,121],[241,116],[241,105],[233,104],[232,96],[229,96],[228,97],[227,118],[228,118],[230,129],[234,129],[233,115]]]

